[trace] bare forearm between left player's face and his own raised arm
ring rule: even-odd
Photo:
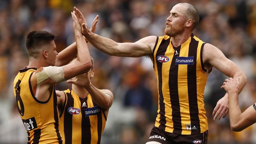
[[[56,59],[56,66],[67,65],[77,54],[76,42],[59,52]]]

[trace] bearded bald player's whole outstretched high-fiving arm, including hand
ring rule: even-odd
[[[156,36],[148,36],[134,43],[118,43],[90,31],[83,14],[76,7],[74,7],[74,10],[76,12],[76,16],[81,18],[81,21],[79,22],[82,26],[83,35],[98,50],[109,55],[121,57],[141,57],[145,55],[151,56],[152,50],[156,43]]]

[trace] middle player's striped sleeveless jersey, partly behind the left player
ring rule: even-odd
[[[65,90],[60,131],[63,144],[100,144],[106,125],[103,109],[93,102],[90,94],[80,98],[73,90]]]

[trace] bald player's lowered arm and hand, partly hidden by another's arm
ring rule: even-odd
[[[226,76],[233,79],[240,79],[240,88],[239,92],[245,86],[247,78],[238,66],[227,59],[225,55],[215,46],[211,44],[205,44],[203,49],[203,63],[204,65],[211,65],[217,68]],[[220,119],[225,117],[228,114],[228,94],[226,93],[221,100],[217,102],[215,109],[213,110],[214,119]]]

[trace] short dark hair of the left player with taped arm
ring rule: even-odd
[[[56,39],[56,35],[48,31],[31,31],[26,37],[26,48],[29,57],[36,58],[40,53],[41,46],[49,44]]]

